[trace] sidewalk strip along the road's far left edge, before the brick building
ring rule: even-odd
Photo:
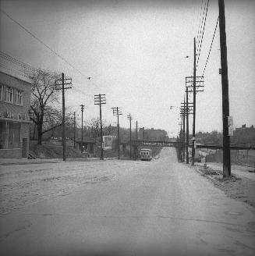
[[[88,162],[96,161],[100,158],[66,158],[66,162]],[[105,158],[108,160],[108,158]],[[56,163],[63,162],[62,158],[36,158],[36,159],[27,159],[27,158],[0,158],[0,165],[28,165],[28,164],[44,164],[44,163]]]

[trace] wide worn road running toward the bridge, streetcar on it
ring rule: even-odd
[[[158,160],[1,166],[1,255],[254,255],[253,208]]]

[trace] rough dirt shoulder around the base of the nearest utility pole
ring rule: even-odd
[[[228,197],[243,201],[255,208],[255,172],[254,168],[242,165],[234,165],[231,178],[222,177],[222,165],[209,163],[207,167],[204,164],[197,164],[193,167],[201,176],[206,177],[214,183]]]

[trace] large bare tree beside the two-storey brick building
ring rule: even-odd
[[[41,144],[44,133],[62,125],[61,111],[57,107],[58,91],[55,90],[58,76],[37,70],[31,79],[31,119],[37,126],[37,144]]]

